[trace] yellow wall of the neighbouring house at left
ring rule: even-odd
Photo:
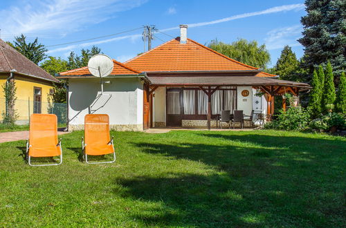
[[[15,103],[15,109],[17,111],[17,114],[19,115],[19,121],[29,120],[29,116],[33,113],[34,87],[42,88],[41,111],[42,113],[47,113],[49,89],[53,88],[52,82],[44,81],[41,79],[35,79],[33,77],[28,76],[15,75],[15,85],[17,87],[17,100]]]

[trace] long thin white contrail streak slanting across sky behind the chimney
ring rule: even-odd
[[[268,8],[268,9],[262,10],[262,11],[248,12],[248,13],[244,13],[241,15],[234,15],[232,17],[226,17],[223,19],[218,19],[215,21],[190,23],[190,24],[188,24],[188,26],[189,26],[189,28],[208,26],[208,25],[215,24],[215,23],[233,21],[235,19],[241,19],[241,18],[245,18],[245,17],[254,17],[257,15],[267,15],[267,14],[271,14],[271,13],[275,13],[275,12],[286,12],[286,11],[290,11],[290,10],[302,10],[302,9],[304,9],[304,4],[292,4],[292,5],[276,6],[276,7]],[[176,29],[179,29],[179,27],[166,28],[166,29],[163,29],[161,31],[165,32],[165,31],[176,30]],[[88,43],[84,43],[84,44],[76,44],[76,45],[71,45],[71,46],[67,46],[64,48],[55,48],[55,49],[49,50],[48,53],[55,53],[55,52],[59,52],[62,50],[70,50],[72,48],[78,48],[78,47],[92,46],[95,44],[103,44],[103,43],[108,43],[111,41],[118,41],[121,39],[132,39],[133,40],[133,39],[137,39],[141,36],[142,36],[141,34],[127,35],[127,36],[116,37],[116,38],[111,38],[111,39],[104,39],[102,41],[93,41],[93,42],[88,42]]]

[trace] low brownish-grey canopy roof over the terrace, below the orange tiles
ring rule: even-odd
[[[298,88],[311,88],[309,84],[302,82],[253,76],[152,76],[149,79],[153,86],[295,86]]]

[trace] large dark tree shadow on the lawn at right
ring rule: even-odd
[[[163,205],[157,209],[161,213],[143,211],[134,218],[146,225],[202,227],[342,223],[343,188],[335,183],[343,182],[344,163],[334,160],[343,153],[341,140],[214,133],[197,133],[196,138],[200,136],[221,141],[133,143],[144,153],[203,162],[219,172],[177,170],[154,177],[117,178],[125,197]],[[334,152],[316,151],[319,144]]]

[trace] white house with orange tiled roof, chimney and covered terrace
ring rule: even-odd
[[[210,128],[221,110],[273,113],[275,95],[298,95],[311,88],[277,79],[188,39],[187,26],[181,26],[181,37],[113,64],[111,75],[102,79],[103,94],[100,79],[87,67],[60,73],[69,80],[69,130],[82,129],[88,113],[107,113],[111,128],[119,131]]]

